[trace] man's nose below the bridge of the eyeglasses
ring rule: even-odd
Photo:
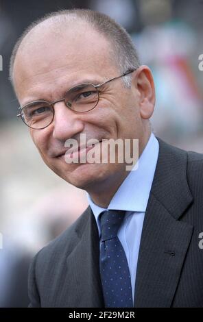
[[[67,108],[64,101],[55,103],[54,112],[53,138],[64,142],[84,129],[81,114]]]

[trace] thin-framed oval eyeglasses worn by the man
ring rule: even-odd
[[[45,129],[49,126],[54,118],[54,104],[64,101],[67,108],[73,110],[74,112],[85,113],[93,110],[99,102],[99,90],[101,86],[112,82],[115,79],[126,76],[133,73],[135,69],[130,69],[123,73],[121,76],[114,77],[108,81],[94,85],[91,83],[78,84],[67,90],[64,98],[58,101],[39,100],[32,101],[23,107],[20,107],[21,113],[17,116],[21,117],[25,125],[31,127],[32,129]]]

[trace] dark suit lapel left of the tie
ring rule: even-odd
[[[67,258],[71,307],[102,307],[97,224],[91,208],[88,207],[82,216],[82,224],[75,228],[77,243]]]

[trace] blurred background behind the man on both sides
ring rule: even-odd
[[[203,153],[201,0],[0,0],[0,307],[26,307],[27,269],[34,254],[87,206],[84,191],[40,160],[8,80],[12,48],[23,30],[47,12],[89,8],[110,15],[132,35],[156,84],[156,136]]]

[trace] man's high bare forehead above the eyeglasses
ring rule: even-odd
[[[71,87],[97,76],[98,82],[115,71],[108,40],[85,23],[59,32],[45,28],[31,32],[14,62],[14,86],[19,99],[36,99],[53,88]],[[100,79],[99,79],[100,77]],[[35,97],[37,95],[38,97]]]

